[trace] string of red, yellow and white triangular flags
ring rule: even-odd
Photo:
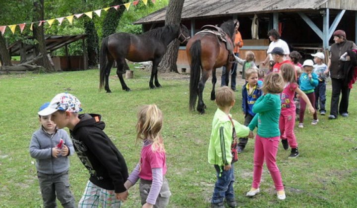
[[[123,3],[123,4],[110,6],[110,7],[102,8],[102,9],[97,9],[97,10],[94,10],[94,11],[88,11],[88,12],[83,12],[83,13],[78,13],[78,14],[72,14],[72,15],[65,16],[65,17],[58,17],[58,18],[53,18],[53,19],[48,19],[48,20],[41,20],[41,21],[37,21],[37,22],[21,23],[21,24],[14,24],[14,25],[3,25],[3,26],[0,26],[0,32],[1,32],[1,35],[3,35],[5,33],[6,28],[9,28],[10,31],[12,32],[12,34],[15,34],[16,28],[18,26],[20,28],[20,32],[22,33],[22,31],[25,29],[26,25],[30,25],[30,30],[32,31],[34,24],[38,24],[38,26],[41,26],[42,24],[47,23],[51,27],[55,23],[55,21],[58,21],[59,25],[61,25],[64,19],[68,20],[68,22],[70,24],[72,24],[74,17],[79,19],[81,16],[85,15],[85,16],[88,16],[89,18],[92,19],[93,18],[93,12],[96,13],[100,17],[101,13],[102,13],[102,10],[108,11],[110,8],[114,8],[114,9],[118,10],[118,8],[120,6],[125,6],[126,10],[129,10],[129,7],[130,7],[131,4],[136,6],[139,3],[139,1],[140,0],[130,1],[128,3]],[[141,0],[141,1],[143,1],[143,3],[145,5],[147,5],[147,1],[148,0]],[[151,1],[153,3],[155,3],[155,0],[151,0]]]

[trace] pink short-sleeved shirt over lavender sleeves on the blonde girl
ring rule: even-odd
[[[141,149],[139,172],[139,178],[149,181],[153,180],[151,168],[163,168],[163,176],[167,170],[165,152],[159,152],[158,150],[153,152],[151,146],[151,144],[143,146]]]

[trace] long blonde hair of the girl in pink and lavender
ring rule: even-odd
[[[163,114],[156,104],[144,105],[138,112],[136,139],[147,139],[153,151],[165,152],[161,135],[163,124]]]

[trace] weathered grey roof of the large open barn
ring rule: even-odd
[[[181,20],[320,8],[357,10],[357,4],[355,0],[185,0]],[[166,9],[167,7],[155,11],[134,24],[165,21]]]

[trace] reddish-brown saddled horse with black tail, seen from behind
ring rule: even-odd
[[[224,22],[220,28],[227,34],[227,44],[230,44],[233,48],[232,40],[235,37],[236,22],[229,20]],[[189,95],[189,108],[194,110],[197,96],[198,104],[197,111],[201,114],[205,112],[206,105],[203,103],[203,89],[207,79],[212,71],[212,92],[211,100],[215,100],[215,85],[217,82],[216,68],[226,66],[226,74],[229,74],[232,62],[225,43],[221,42],[219,38],[210,32],[198,32],[196,33],[186,45],[186,53],[188,62],[190,65],[190,95]],[[202,70],[202,77],[200,79],[200,73]],[[225,77],[226,85],[229,82],[229,76]]]

